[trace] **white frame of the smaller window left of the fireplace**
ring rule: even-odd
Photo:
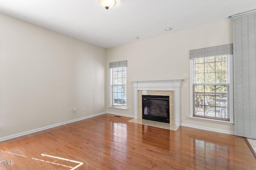
[[[114,69],[114,68],[110,68],[109,69],[109,77],[110,77],[110,108],[114,108],[114,109],[126,109],[127,110],[127,66],[120,66],[120,67],[115,67],[115,68],[125,68],[125,72],[126,72],[126,84],[123,84],[123,86],[125,86],[126,88],[126,90],[125,90],[125,93],[126,93],[126,95],[125,95],[125,100],[126,100],[126,106],[115,106],[115,105],[113,105],[112,104],[112,102],[113,102],[113,92],[112,92],[112,69]],[[114,85],[114,86],[120,86],[120,85]]]

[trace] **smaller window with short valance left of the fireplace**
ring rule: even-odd
[[[127,61],[110,63],[110,107],[127,109]]]

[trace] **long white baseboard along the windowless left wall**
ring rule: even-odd
[[[68,124],[68,123],[73,123],[73,122],[76,122],[76,121],[88,119],[88,118],[90,118],[90,117],[95,117],[95,116],[98,116],[98,115],[103,115],[103,114],[105,114],[105,113],[106,113],[106,112],[97,113],[97,114],[94,114],[94,115],[90,115],[90,116],[86,116],[86,117],[81,117],[81,118],[78,118],[78,119],[73,119],[73,120],[70,120],[70,121],[65,121],[65,122],[62,122],[62,123],[57,123],[57,124],[50,125],[50,126],[46,126],[46,127],[41,127],[41,128],[38,128],[38,129],[33,129],[33,130],[30,130],[30,131],[26,131],[26,132],[17,133],[17,134],[10,135],[10,136],[6,136],[6,137],[1,137],[1,138],[0,138],[0,142],[1,142],[1,141],[6,141],[6,140],[8,140],[8,139],[13,139],[13,138],[16,138],[16,137],[28,135],[28,134],[31,134],[31,133],[43,131],[43,130],[50,129],[50,128],[53,128],[53,127],[65,125],[65,124]]]

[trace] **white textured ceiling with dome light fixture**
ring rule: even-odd
[[[3,14],[104,48],[253,9],[256,0],[117,0],[109,10],[98,0],[0,0]],[[165,31],[167,27],[172,30]]]

